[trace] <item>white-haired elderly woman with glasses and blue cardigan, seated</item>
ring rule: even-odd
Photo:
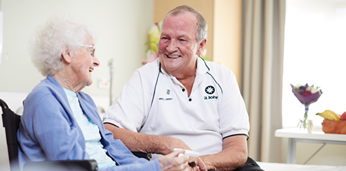
[[[80,92],[100,65],[95,31],[72,16],[57,16],[38,30],[32,62],[47,77],[24,101],[17,133],[19,164],[29,161],[95,159],[100,170],[188,170],[176,151],[154,161],[139,159],[104,129],[95,103]]]

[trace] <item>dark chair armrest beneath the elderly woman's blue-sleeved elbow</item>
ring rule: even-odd
[[[36,170],[73,170],[73,171],[96,171],[98,169],[97,162],[94,159],[90,160],[65,160],[65,161],[34,161],[25,163],[23,171]]]

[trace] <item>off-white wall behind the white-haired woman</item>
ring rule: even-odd
[[[47,18],[64,12],[84,18],[97,31],[95,55],[101,65],[92,73],[93,85],[84,88],[83,91],[95,97],[96,103],[100,102],[101,106],[108,107],[108,89],[97,88],[97,79],[109,78],[108,60],[113,58],[113,96],[119,96],[130,75],[141,66],[141,61],[145,60],[147,47],[144,43],[148,41],[146,33],[153,23],[153,3],[153,0],[2,0],[0,7],[3,12],[3,53],[0,64],[0,98],[9,101],[10,108],[16,110],[21,105],[23,96],[44,79],[30,60],[30,36]],[[0,151],[2,166],[8,163],[2,127]]]

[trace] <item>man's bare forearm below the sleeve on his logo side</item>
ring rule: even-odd
[[[233,135],[224,138],[222,151],[214,155],[201,156],[207,170],[234,170],[244,166],[248,153],[246,135]]]

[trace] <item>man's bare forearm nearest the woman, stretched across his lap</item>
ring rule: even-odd
[[[111,131],[115,139],[122,140],[130,151],[168,155],[174,148],[191,150],[182,140],[174,137],[135,133],[108,123],[104,123],[104,128]]]

